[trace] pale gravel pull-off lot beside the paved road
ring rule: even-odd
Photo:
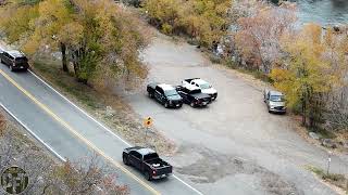
[[[125,99],[178,145],[172,158],[179,176],[207,194],[336,194],[306,169],[326,169],[327,153],[295,132],[286,115],[271,115],[262,92],[228,70],[216,68],[195,47],[162,35],[141,57],[148,81],[179,84],[201,77],[219,91],[207,108],[165,109],[142,90]],[[347,155],[334,156],[331,172],[348,173]]]

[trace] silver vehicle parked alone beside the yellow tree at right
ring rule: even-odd
[[[268,106],[269,113],[286,113],[285,98],[282,92],[264,90],[263,101]]]

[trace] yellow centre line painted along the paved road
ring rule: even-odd
[[[123,172],[128,174],[130,178],[136,180],[138,183],[140,183],[142,186],[145,186],[147,190],[149,190],[151,193],[156,195],[160,195],[158,191],[156,191],[153,187],[151,187],[149,184],[145,183],[141,179],[136,177],[134,173],[132,173],[129,170],[127,170],[125,167],[123,167],[121,164],[112,159],[110,156],[108,156],[104,152],[102,152],[100,148],[98,148],[95,144],[92,144],[89,140],[87,140],[85,136],[80,135],[74,128],[72,128],[69,123],[66,123],[63,119],[61,119],[59,116],[57,116],[53,112],[51,112],[45,104],[39,102],[34,95],[32,95],[28,91],[26,91],[24,88],[22,88],[17,82],[15,82],[9,75],[7,75],[4,72],[0,69],[0,74],[9,80],[13,86],[15,86],[20,91],[22,91],[27,98],[29,98],[35,104],[37,104],[41,109],[44,109],[48,115],[50,115],[53,119],[55,119],[59,123],[64,126],[71,133],[73,133],[76,138],[82,140],[85,144],[87,144],[90,148],[92,148],[95,152],[97,152],[99,155],[108,159],[112,165],[121,169]]]

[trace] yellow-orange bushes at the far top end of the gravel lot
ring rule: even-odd
[[[149,24],[210,48],[227,34],[231,0],[145,0]]]

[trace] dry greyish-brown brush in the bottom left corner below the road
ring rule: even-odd
[[[0,172],[14,165],[23,168],[29,178],[26,194],[129,194],[98,156],[62,162],[23,132],[0,110]]]

